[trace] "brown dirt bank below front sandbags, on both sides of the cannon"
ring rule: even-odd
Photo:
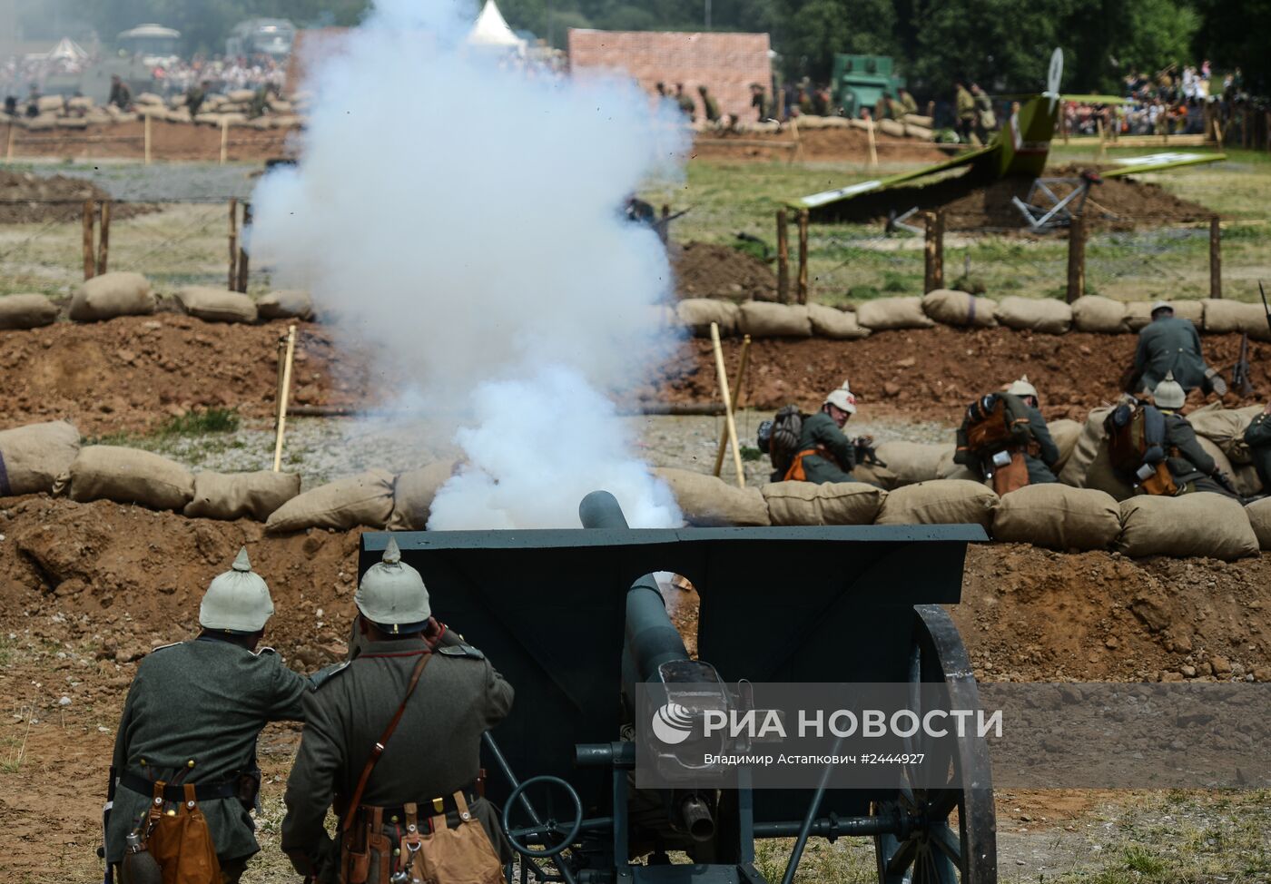
[[[360,531],[271,537],[254,522],[28,497],[5,500],[0,533],[0,626],[36,640],[105,636],[97,655],[112,663],[180,640],[207,582],[247,545],[277,605],[269,643],[299,668],[344,653]],[[691,629],[694,599],[677,601]],[[1210,662],[1219,674],[1271,678],[1266,556],[1132,561],[972,546],[955,619],[988,678],[1153,680],[1187,666],[1207,674]]]

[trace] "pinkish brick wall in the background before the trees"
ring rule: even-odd
[[[676,83],[697,103],[704,117],[698,85],[704,84],[722,113],[752,121],[750,84],[761,83],[771,91],[771,62],[768,34],[690,33],[665,30],[569,29],[569,67],[620,70],[652,93],[665,83],[667,93]]]

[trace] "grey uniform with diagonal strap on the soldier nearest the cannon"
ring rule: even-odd
[[[300,874],[336,880],[338,848],[323,827],[327,809],[346,810],[371,747],[402,704],[423,653],[430,652],[422,639],[366,643],[356,659],[305,697],[305,732],[287,779],[282,820],[282,850]],[[463,644],[438,648],[361,803],[425,807],[433,798],[470,787],[480,770],[482,734],[502,721],[511,706],[511,685],[480,652]],[[479,799],[472,810],[496,852],[510,860],[494,807]]]

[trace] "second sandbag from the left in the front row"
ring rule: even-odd
[[[114,500],[179,512],[194,497],[194,475],[151,451],[92,445],[71,464],[70,495],[81,503]]]

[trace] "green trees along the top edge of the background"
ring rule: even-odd
[[[109,39],[141,22],[179,28],[191,51],[217,52],[253,17],[355,24],[366,0],[11,0],[28,25],[83,22]],[[430,3],[436,0],[419,0]],[[769,32],[787,76],[826,79],[835,52],[896,57],[920,97],[958,79],[1032,90],[1055,46],[1064,89],[1115,90],[1131,69],[1210,58],[1271,91],[1271,0],[501,0],[508,23],[563,46],[572,27]],[[475,11],[475,0],[474,0]]]

